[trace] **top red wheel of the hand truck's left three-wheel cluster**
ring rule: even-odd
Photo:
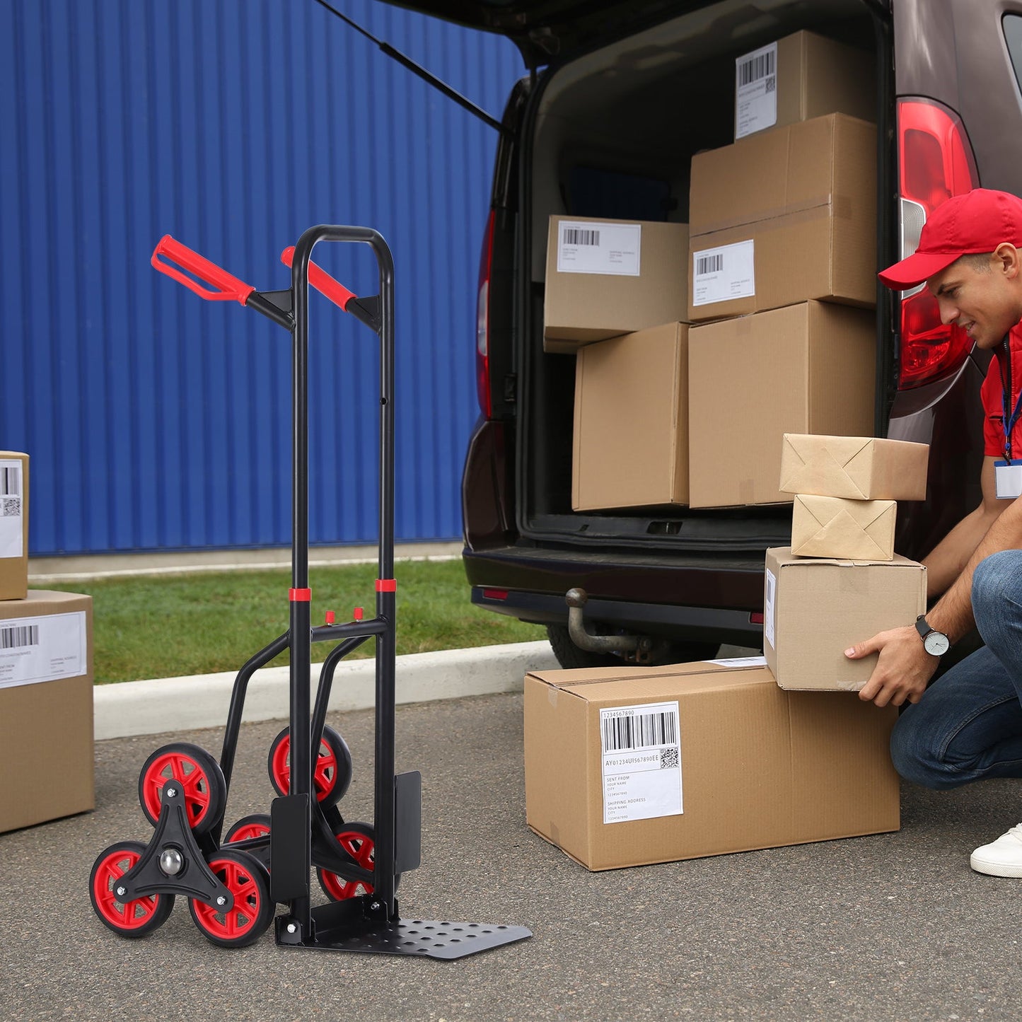
[[[159,822],[160,795],[168,781],[183,788],[188,826],[195,834],[204,834],[219,823],[227,804],[227,785],[220,763],[205,749],[174,742],[146,759],[138,779],[138,800],[153,826]]]

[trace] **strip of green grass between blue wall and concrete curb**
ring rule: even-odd
[[[535,624],[494,614],[469,602],[460,560],[404,561],[398,579],[398,653],[423,653],[546,638]],[[376,612],[376,564],[310,569],[313,624],[333,610],[338,621],[355,607]],[[46,584],[38,588],[93,598],[97,684],[237,670],[287,631],[290,569],[201,572]],[[313,646],[320,661],[332,643]],[[372,656],[369,641],[353,657]],[[284,653],[274,665],[287,663]]]

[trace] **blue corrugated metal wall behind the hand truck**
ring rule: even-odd
[[[500,117],[504,39],[338,4]],[[31,552],[290,543],[288,335],[157,274],[173,234],[261,290],[312,224],[394,252],[399,540],[460,533],[496,133],[312,0],[0,0],[0,449]],[[356,293],[365,246],[320,245]],[[374,542],[376,339],[314,295],[314,543]]]

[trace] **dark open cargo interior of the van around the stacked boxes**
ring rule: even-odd
[[[692,157],[735,140],[737,57],[803,29],[839,39],[858,48],[867,72],[856,76],[856,109],[876,109],[877,43],[862,3],[772,5],[774,16],[763,26],[750,25],[741,7],[695,11],[573,60],[551,76],[532,129],[526,127],[531,204],[521,212],[528,239],[525,322],[531,328],[520,352],[518,517],[521,533],[530,539],[675,554],[749,552],[758,560],[765,547],[790,541],[791,507],[785,504],[572,511],[575,360],[545,353],[542,342],[550,218],[690,223],[696,216],[689,205]],[[868,159],[875,165],[874,156]],[[875,223],[868,227],[872,232]],[[688,267],[683,272],[688,276]],[[872,365],[869,371],[872,375]],[[739,454],[757,422],[727,377],[716,384],[719,393],[711,400],[734,406],[730,443]],[[872,420],[871,415],[868,429]],[[725,459],[719,472],[728,471]],[[621,497],[622,504],[634,503]]]

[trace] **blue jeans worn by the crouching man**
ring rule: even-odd
[[[891,734],[894,768],[927,788],[1022,777],[1022,550],[977,565],[972,609],[985,647],[934,682]]]

